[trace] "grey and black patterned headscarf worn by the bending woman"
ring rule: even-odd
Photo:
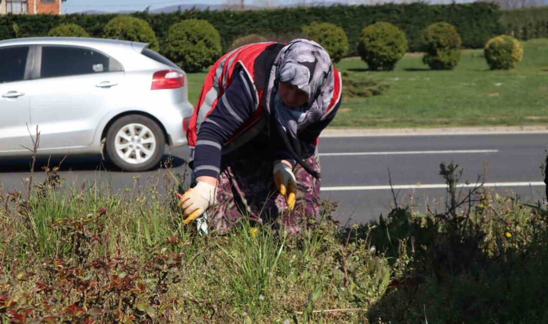
[[[307,103],[299,109],[284,106],[278,95],[279,82],[298,87],[307,94]],[[266,110],[275,118],[289,153],[316,178],[319,174],[302,161],[313,154],[312,147],[301,143],[297,132],[322,119],[333,98],[333,88],[333,64],[329,54],[318,43],[306,39],[295,39],[282,48],[272,65],[266,88]]]

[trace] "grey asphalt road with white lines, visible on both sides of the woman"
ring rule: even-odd
[[[544,194],[540,165],[548,149],[548,134],[489,134],[489,135],[406,135],[385,137],[329,137],[319,144],[322,165],[322,197],[339,201],[336,218],[345,224],[361,223],[386,215],[393,203],[389,187],[398,193],[398,203],[409,204],[425,211],[443,208],[444,180],[439,175],[439,163],[454,161],[463,168],[461,182],[476,183],[478,174],[485,174],[490,190],[515,192],[522,200],[536,201]],[[174,170],[186,170],[186,147],[173,152]],[[54,158],[55,165],[60,158]],[[45,165],[41,159],[36,170]],[[67,183],[82,185],[110,183],[115,189],[158,181],[158,171],[125,173],[112,170],[99,157],[68,157],[61,166],[61,176]],[[43,174],[38,173],[38,180]],[[7,190],[22,189],[22,179],[30,175],[29,159],[4,159],[0,162],[0,183]]]

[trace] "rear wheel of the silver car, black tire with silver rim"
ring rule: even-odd
[[[165,138],[158,124],[148,117],[119,118],[106,133],[110,161],[125,171],[145,171],[158,166],[164,154]]]

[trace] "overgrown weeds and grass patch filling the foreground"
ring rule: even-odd
[[[292,235],[246,218],[199,235],[175,180],[1,191],[0,320],[543,322],[548,212],[480,187],[461,197],[458,167],[441,170],[446,211],[398,206],[341,230],[326,202]]]

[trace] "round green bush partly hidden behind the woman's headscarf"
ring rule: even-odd
[[[348,54],[350,48],[348,37],[341,27],[329,24],[329,22],[312,22],[301,29],[306,38],[315,41],[327,50],[333,62],[339,62]]]

